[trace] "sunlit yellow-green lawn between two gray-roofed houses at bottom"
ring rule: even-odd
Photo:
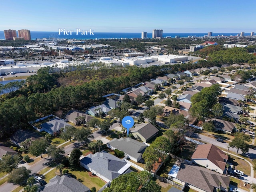
[[[96,187],[97,191],[102,188],[105,182],[98,177],[90,177],[88,171],[84,168],[79,168],[79,170],[71,171],[70,173],[76,176],[76,179],[86,185],[88,188]]]

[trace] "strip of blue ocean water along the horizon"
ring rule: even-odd
[[[18,31],[17,31],[18,32]],[[212,36],[236,36],[237,33],[212,33]],[[72,35],[64,34],[64,32],[40,32],[40,31],[31,31],[31,38],[32,40],[41,39],[41,38],[60,38],[60,39],[101,39],[101,38],[141,38],[141,33],[104,33],[104,32],[94,32],[90,34],[90,32],[86,34],[81,34],[78,32],[76,34],[76,30],[72,32]],[[174,38],[175,36],[180,37],[188,37],[188,36],[196,36],[202,37],[207,35],[208,33],[163,33],[163,37],[170,36]],[[240,34],[240,33],[239,33]],[[148,38],[152,38],[152,33],[148,33]],[[249,36],[250,33],[245,33],[245,36]],[[18,36],[18,34],[17,34]],[[4,39],[4,31],[0,31],[0,39]]]

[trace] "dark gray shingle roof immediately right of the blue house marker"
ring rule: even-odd
[[[137,126],[136,126],[137,125]],[[158,129],[151,123],[136,124],[135,128],[130,128],[130,133],[138,132],[142,137],[148,140],[154,134],[158,132]]]

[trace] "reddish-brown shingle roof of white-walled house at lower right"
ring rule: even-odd
[[[226,167],[224,160],[228,160],[228,156],[213,144],[202,144],[197,146],[191,157],[191,160],[193,159],[208,159],[224,171]]]

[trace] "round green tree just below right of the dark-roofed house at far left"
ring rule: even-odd
[[[36,139],[32,142],[29,152],[34,156],[41,156],[44,152],[46,152],[46,148],[48,147],[49,143],[45,138]]]

